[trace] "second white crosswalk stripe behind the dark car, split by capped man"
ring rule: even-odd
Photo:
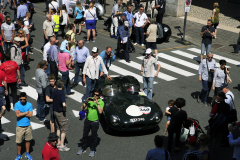
[[[119,62],[121,62],[121,63],[123,63],[125,65],[128,65],[130,67],[133,67],[133,68],[135,68],[137,70],[141,70],[141,64],[136,63],[134,61],[131,61],[131,63],[128,63],[125,60],[119,60]],[[177,79],[175,77],[169,76],[169,75],[161,73],[161,72],[158,73],[158,78],[166,80],[166,81],[172,81],[172,80],[176,80]]]

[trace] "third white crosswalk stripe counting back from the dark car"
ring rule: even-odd
[[[137,59],[142,60],[143,57],[140,56],[140,57],[137,57]],[[160,58],[159,58],[159,59],[160,59]],[[159,61],[159,60],[158,60],[158,61]],[[178,68],[178,67],[174,67],[174,66],[169,65],[169,64],[167,64],[167,63],[164,63],[164,62],[162,62],[162,61],[159,61],[159,62],[160,62],[161,68],[167,69],[167,70],[172,71],[172,72],[175,72],[175,73],[177,73],[177,74],[180,74],[180,75],[183,75],[183,76],[186,76],[186,77],[190,77],[190,76],[195,75],[195,74],[193,74],[193,73],[191,73],[191,72],[185,71],[185,70],[180,69],[180,68]]]

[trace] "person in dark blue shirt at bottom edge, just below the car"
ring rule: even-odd
[[[154,138],[155,149],[148,151],[146,160],[171,160],[170,154],[166,151],[163,146],[163,138],[159,135],[156,135]]]

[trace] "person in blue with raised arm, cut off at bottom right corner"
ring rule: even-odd
[[[235,129],[238,128],[240,130],[240,122],[233,123],[228,127],[228,131],[229,131],[228,141],[230,146],[234,146],[233,157],[232,157],[233,160],[239,160],[240,159],[240,152],[239,152],[240,151],[240,135],[238,135],[237,139],[233,140],[232,132],[233,132],[234,126],[237,126]]]

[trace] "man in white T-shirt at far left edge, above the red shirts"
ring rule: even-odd
[[[13,38],[15,37],[15,25],[11,23],[10,16],[6,16],[6,22],[1,26],[1,35],[4,45],[4,52],[6,53],[12,46]]]

